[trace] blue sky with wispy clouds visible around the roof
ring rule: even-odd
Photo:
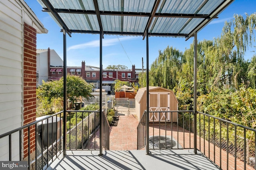
[[[42,12],[42,6],[36,0],[24,0],[33,10],[38,19],[48,30],[48,34],[37,34],[37,49],[54,49],[60,58],[63,59],[63,34],[60,27],[54,22],[48,13]],[[232,20],[234,14],[245,16],[256,12],[256,0],[235,0],[228,6],[218,18],[212,20],[198,32],[197,39],[213,40],[220,37],[225,21]],[[88,66],[99,67],[100,43],[99,34],[79,34],[72,33],[72,37],[67,34],[67,66],[81,66],[85,61]],[[163,51],[167,46],[172,46],[184,52],[190,48],[194,38],[185,40],[185,38],[171,37],[149,37],[149,65],[156,60],[159,51]],[[142,36],[110,36],[104,35],[102,40],[102,63],[103,68],[108,65],[124,65],[128,69],[135,65],[136,68],[142,68],[142,58],[144,68],[146,68],[146,38]],[[256,46],[256,43],[253,44]],[[256,54],[255,47],[247,50],[246,60],[250,60]]]

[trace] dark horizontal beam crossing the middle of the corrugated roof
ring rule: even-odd
[[[68,14],[91,14],[96,15],[94,10],[72,10],[72,9],[55,9],[58,13]],[[48,8],[43,8],[43,12],[50,12]],[[150,17],[149,12],[123,12],[123,11],[99,11],[100,15],[114,15],[114,16],[144,16]],[[169,13],[155,13],[155,17],[166,18],[209,18],[208,14],[169,14]],[[217,17],[216,17],[217,18]]]

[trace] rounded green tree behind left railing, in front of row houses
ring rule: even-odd
[[[73,108],[74,103],[78,102],[79,97],[82,96],[86,99],[92,97],[93,86],[88,84],[79,76],[68,75],[67,76],[67,110]],[[63,77],[60,80],[43,82],[37,89],[38,98],[46,98],[51,103],[52,98],[63,99]]]

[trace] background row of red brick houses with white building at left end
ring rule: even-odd
[[[53,49],[38,49],[37,53],[37,86],[42,84],[42,80],[45,82],[50,80],[60,80],[63,76],[63,60]],[[141,69],[135,69],[135,65],[132,65],[132,69],[118,70],[118,69],[104,69],[102,72],[102,88],[108,92],[108,94],[114,94],[115,80],[138,82],[138,74]],[[68,66],[67,74],[76,75],[82,77],[86,82],[94,85],[96,90],[100,88],[100,68],[94,66],[86,66],[85,61],[82,61],[81,66]]]

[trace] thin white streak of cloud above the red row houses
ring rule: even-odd
[[[134,36],[127,36],[127,37],[122,37],[119,38],[120,41],[126,41],[126,40],[131,40],[137,37]],[[102,46],[113,46],[117,43],[119,43],[118,38],[112,38],[112,39],[102,39]],[[84,49],[84,48],[92,48],[92,47],[99,47],[100,46],[100,40],[93,40],[90,42],[86,42],[83,44],[77,44],[74,46],[68,47],[68,50],[73,50],[73,49]]]

